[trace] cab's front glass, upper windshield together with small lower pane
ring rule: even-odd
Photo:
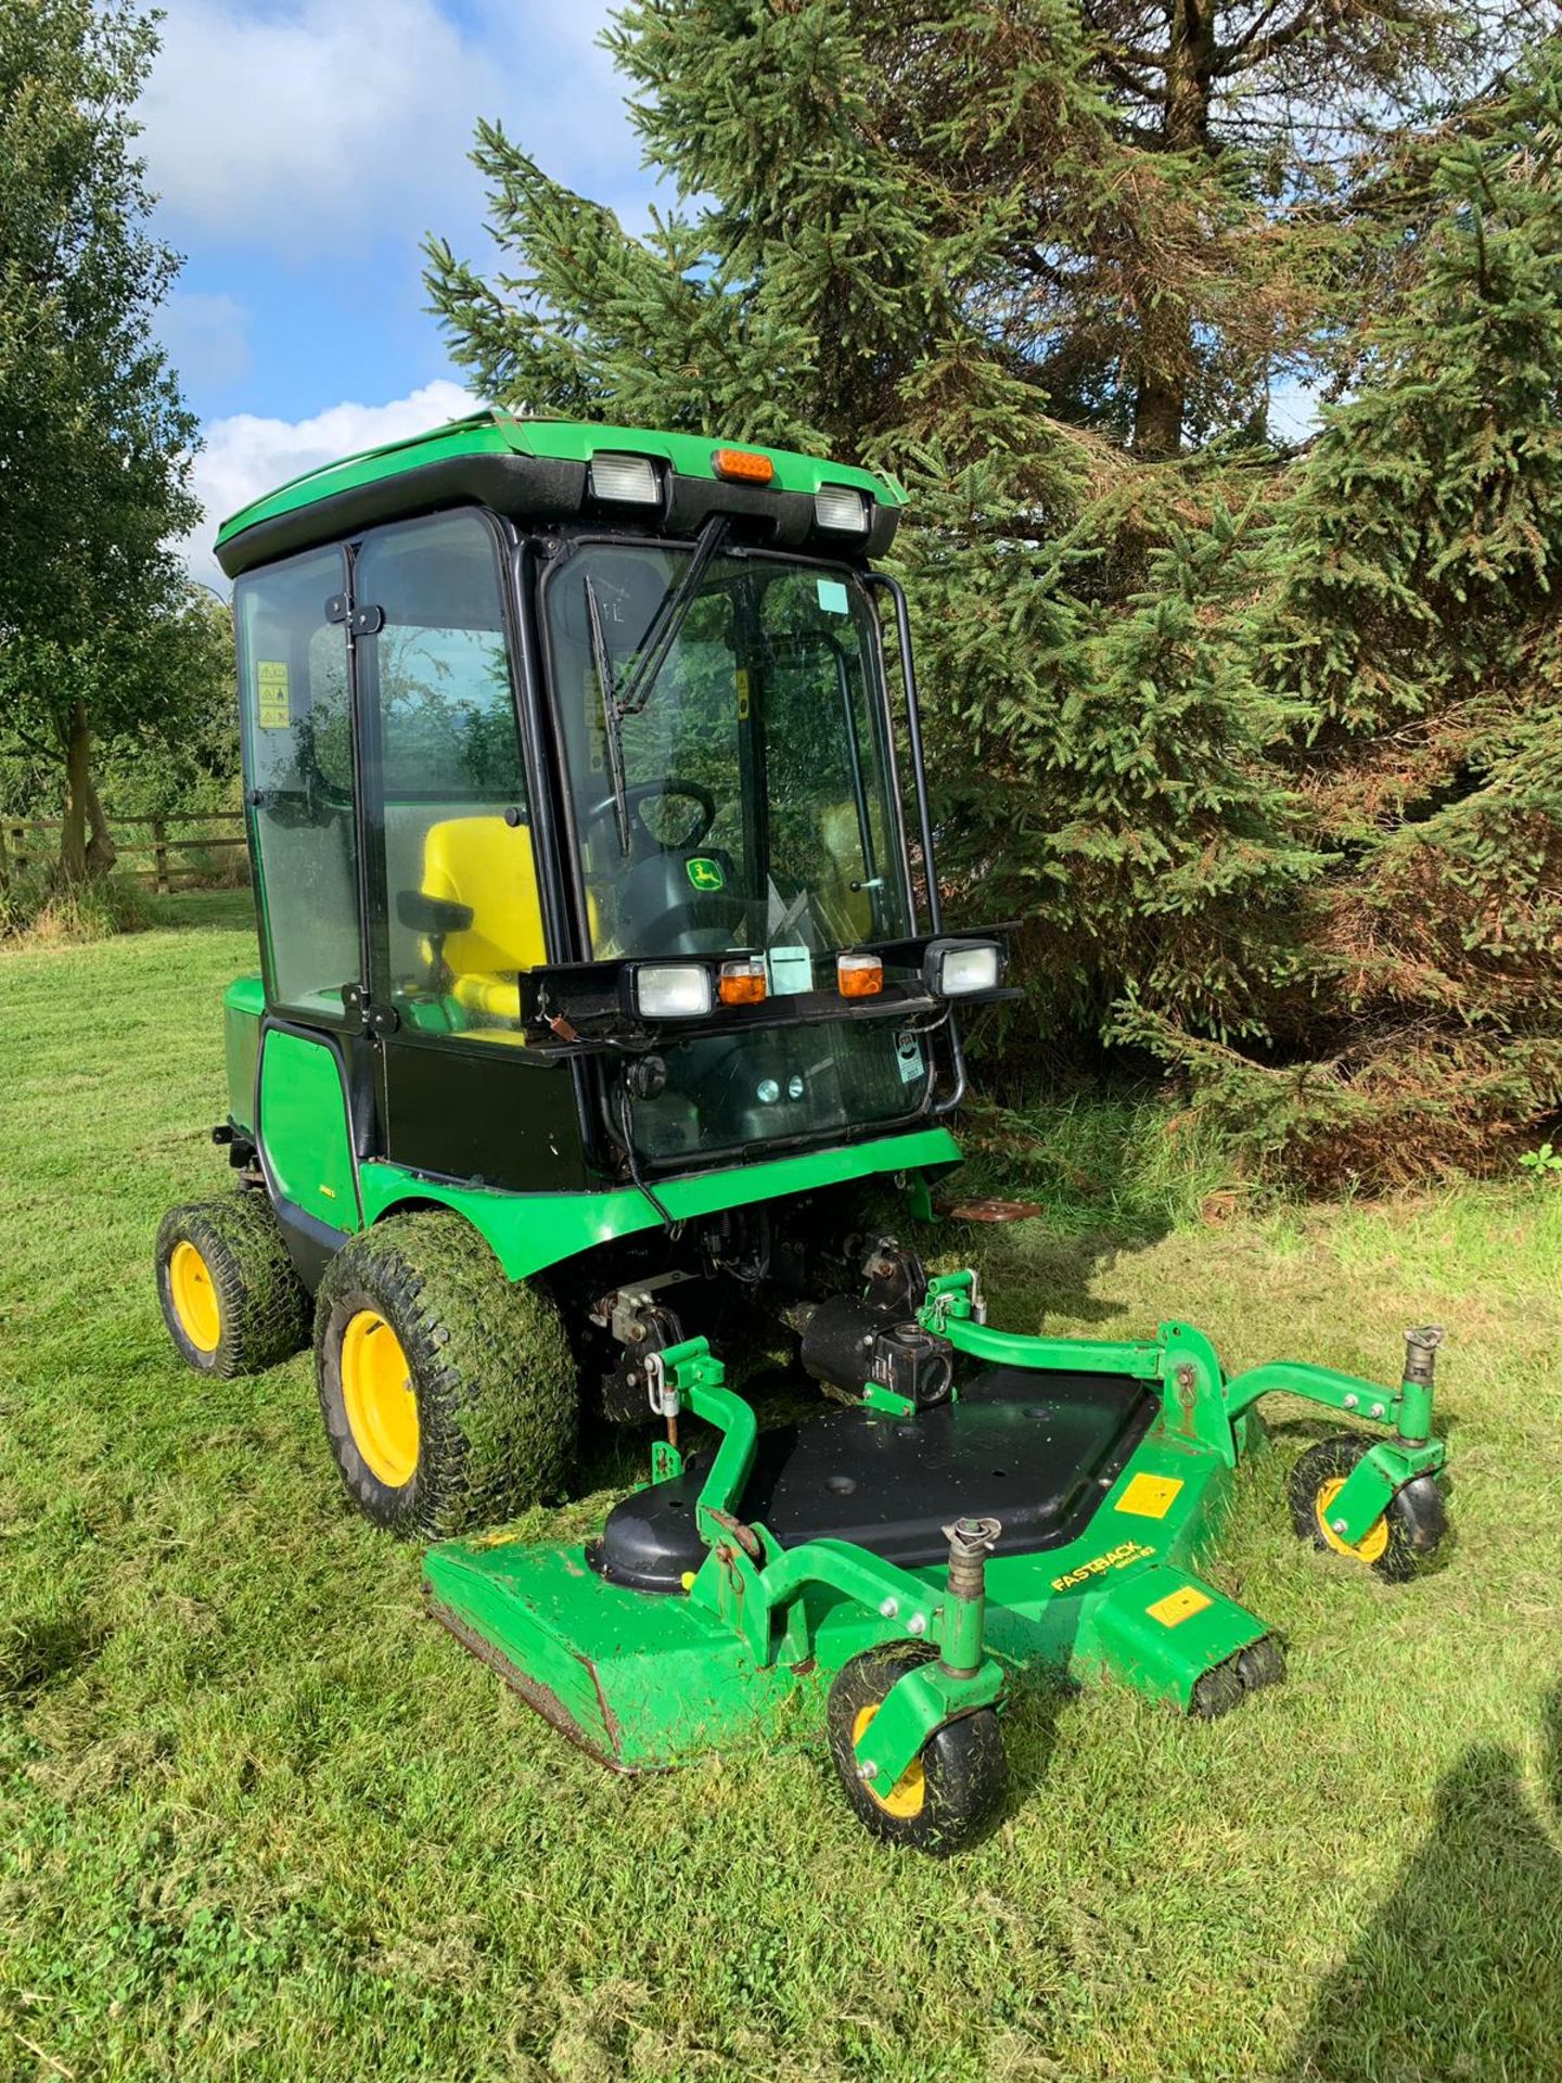
[[[675,602],[689,558],[587,544],[546,581],[591,954],[762,954],[773,1002],[833,994],[837,952],[912,931],[875,614],[848,571],[735,552]],[[929,1083],[891,1019],[766,1025],[669,1050],[631,1133],[673,1160],[902,1121]]]

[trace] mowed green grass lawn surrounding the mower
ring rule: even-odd
[[[177,1362],[152,1235],[225,1191],[250,962],[242,896],[0,956],[0,2077],[1562,2075],[1562,1194],[1173,1221],[1131,1123],[1027,1158],[1045,1219],[956,1239],[1004,1323],[1391,1377],[1443,1319],[1458,1539],[1404,1589],[1304,1552],[1320,1427],[1277,1410],[1210,1573],[1289,1683],[1214,1725],[1023,1698],[1002,1827],[937,1866],[802,1716],[600,1771],[423,1618],[306,1358]]]

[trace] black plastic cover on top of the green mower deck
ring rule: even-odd
[[[1108,1485],[1143,1439],[1156,1398],[1129,1375],[1037,1375],[993,1366],[960,1402],[914,1419],[833,1410],[760,1433],[737,1516],[783,1548],[856,1541],[906,1568],[948,1556],[958,1514],[1002,1521],[998,1554],[1062,1548],[1083,1533]],[[704,1546],[694,1506],[710,1454],[681,1477],[625,1498],[587,1550],[612,1583],[677,1591]]]

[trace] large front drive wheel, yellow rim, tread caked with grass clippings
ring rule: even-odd
[[[575,1358],[554,1304],[460,1216],[352,1237],[314,1298],[321,1414],[348,1496],[406,1539],[512,1519],[575,1458]]]

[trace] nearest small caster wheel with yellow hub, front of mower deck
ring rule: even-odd
[[[923,1643],[896,1643],[854,1656],[829,1689],[829,1750],[852,1810],[875,1837],[948,1858],[973,1843],[1002,1806],[1008,1760],[998,1714],[983,1706],[946,1723],[883,1793],[858,1777],[854,1754],[891,1685],[914,1664],[927,1662],[937,1662],[937,1650]]]

